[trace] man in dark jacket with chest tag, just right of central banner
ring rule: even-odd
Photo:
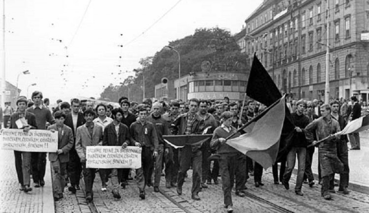
[[[154,158],[157,157],[158,140],[154,124],[147,121],[147,108],[138,107],[138,119],[130,126],[132,142],[142,147],[141,168],[136,169],[136,181],[140,198],[145,199],[145,186],[151,186]],[[161,172],[161,171],[160,171]]]

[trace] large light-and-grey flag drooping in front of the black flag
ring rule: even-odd
[[[266,109],[263,116],[254,119],[246,127],[249,132],[229,139],[226,143],[266,169],[276,162],[284,117],[285,98],[283,96]]]

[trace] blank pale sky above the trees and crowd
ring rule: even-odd
[[[261,2],[5,0],[5,78],[16,85],[18,74],[29,70],[19,76],[21,95],[39,90],[51,103],[99,98],[104,87],[134,76],[141,58],[196,28],[240,32]]]

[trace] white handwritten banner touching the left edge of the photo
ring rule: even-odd
[[[17,129],[0,131],[0,148],[21,152],[56,152],[58,150],[58,132],[30,130],[28,133]]]

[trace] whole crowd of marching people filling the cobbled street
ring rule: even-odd
[[[239,136],[237,130],[266,106],[253,100],[232,102],[227,97],[224,100],[190,99],[187,102],[178,100],[168,103],[153,103],[151,99],[135,103],[126,97],[117,101],[120,107],[105,104],[94,106],[91,101],[74,98],[68,102],[58,100],[58,106],[51,109],[49,100],[43,99],[42,92],[35,91],[31,100],[20,97],[16,102],[17,109],[6,105],[2,110],[8,116],[3,119],[5,128],[18,129],[16,121],[24,117],[28,122],[28,126],[23,128],[24,132],[31,129],[58,132],[58,151],[48,155],[53,169],[55,200],[62,199],[65,186],[71,193],[80,190],[80,178],[83,176],[86,200],[92,202],[92,185],[97,172],[101,178],[101,190],[107,191],[109,182],[111,193],[117,199],[121,198],[121,188],[125,188],[133,178],[141,199],[145,199],[146,187],[153,186],[154,191],[159,192],[162,175],[165,176],[165,187],[176,187],[181,195],[187,171],[192,169],[191,198],[200,200],[199,192],[206,190],[208,185],[219,184],[220,176],[227,212],[233,212],[231,190],[234,184],[236,195],[240,197],[246,196],[246,181],[251,176],[255,187],[264,186],[263,167],[229,146],[226,138],[229,135],[233,135],[232,138]],[[304,195],[304,183],[309,187],[321,184],[322,197],[331,199],[331,193],[336,192],[335,173],[339,174],[338,192],[348,194],[347,143],[350,142],[352,150],[359,150],[360,137],[358,133],[348,137],[335,133],[342,130],[348,121],[366,114],[366,103],[358,101],[356,97],[351,100],[331,100],[330,103],[289,98],[286,105],[294,121],[294,136],[288,154],[279,159],[279,175],[277,163],[273,166],[274,184],[282,184],[289,189],[297,157],[296,195]],[[202,134],[204,131],[213,134],[211,140],[186,144],[178,149],[163,138],[163,135]],[[324,142],[317,142],[327,137]],[[87,168],[87,146],[141,147],[142,166],[134,174],[131,169],[125,168],[98,171]],[[315,147],[318,147],[319,155],[317,183],[314,182],[311,169]],[[34,187],[44,186],[46,153],[14,151],[14,155],[20,190],[32,190],[31,178]]]

